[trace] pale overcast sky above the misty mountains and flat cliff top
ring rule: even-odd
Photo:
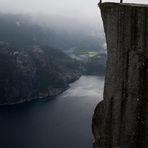
[[[96,17],[99,0],[0,0],[0,10],[13,13],[48,13],[71,16]],[[107,1],[107,0],[103,0]],[[118,2],[119,0],[111,0]],[[148,3],[148,0],[124,0]]]

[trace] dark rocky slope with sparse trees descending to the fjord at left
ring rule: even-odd
[[[0,43],[0,104],[55,96],[78,79],[77,62],[58,49]]]

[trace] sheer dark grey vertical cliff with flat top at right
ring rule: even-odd
[[[108,60],[94,148],[148,148],[148,5],[102,3]]]

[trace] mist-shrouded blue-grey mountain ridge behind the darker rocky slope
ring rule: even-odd
[[[98,36],[92,24],[75,21],[48,16],[0,14],[0,41],[21,48],[39,44],[62,50],[75,46],[78,50],[102,49],[102,35]]]

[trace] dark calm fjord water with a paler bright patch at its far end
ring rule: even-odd
[[[103,77],[82,76],[56,98],[0,107],[0,148],[92,148],[103,85]]]

